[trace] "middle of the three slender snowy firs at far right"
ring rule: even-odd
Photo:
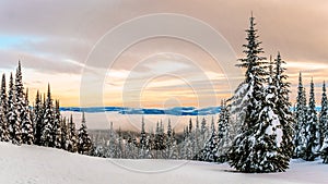
[[[309,88],[307,120],[306,123],[303,124],[302,128],[303,128],[302,132],[304,136],[303,159],[306,161],[314,161],[314,159],[318,156],[320,137],[319,137],[319,130],[318,130],[318,120],[317,120],[313,79],[311,81],[311,88]]]

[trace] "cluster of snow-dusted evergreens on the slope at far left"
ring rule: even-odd
[[[15,78],[10,74],[7,90],[2,74],[0,97],[0,140],[15,145],[27,144],[65,149],[71,152],[91,154],[92,143],[87,133],[84,113],[82,125],[77,131],[72,115],[69,120],[60,114],[59,100],[51,98],[50,85],[47,95],[38,90],[33,107],[28,102],[28,89],[24,91],[21,62]]]

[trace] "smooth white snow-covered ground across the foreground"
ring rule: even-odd
[[[315,184],[328,183],[320,160],[293,160],[284,173],[245,174],[227,164],[119,160],[0,143],[0,184]]]

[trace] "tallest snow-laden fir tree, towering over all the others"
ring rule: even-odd
[[[232,100],[232,113],[238,115],[237,121],[241,125],[238,135],[233,140],[230,148],[230,164],[242,172],[257,172],[258,160],[250,157],[256,147],[257,133],[256,125],[258,123],[258,115],[260,109],[259,103],[262,102],[262,88],[265,83],[266,64],[262,60],[265,57],[260,41],[258,40],[257,29],[255,28],[254,17],[250,17],[250,27],[246,29],[248,41],[243,45],[246,53],[245,59],[241,59],[242,64],[237,66],[246,69],[245,81],[238,86]],[[257,150],[256,150],[257,151]]]

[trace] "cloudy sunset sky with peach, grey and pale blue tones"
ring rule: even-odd
[[[328,1],[0,1],[0,73],[22,62],[34,101],[61,106],[218,106],[241,82],[250,12],[265,56],[286,61],[294,101],[298,72],[319,102],[328,73]]]

